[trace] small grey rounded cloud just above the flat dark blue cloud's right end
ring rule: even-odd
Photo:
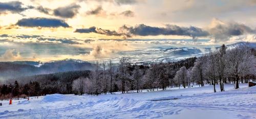
[[[79,8],[80,6],[75,4],[66,7],[59,7],[53,10],[53,14],[64,18],[73,18],[78,13]]]

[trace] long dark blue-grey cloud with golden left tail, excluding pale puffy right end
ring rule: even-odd
[[[131,37],[132,35],[138,36],[157,36],[157,35],[179,35],[179,36],[190,36],[196,37],[206,37],[208,32],[197,27],[179,27],[176,25],[166,25],[165,28],[161,27],[151,27],[144,24],[128,27],[126,25],[119,28],[119,32],[111,30],[103,30],[101,28],[91,27],[89,29],[76,29],[75,32],[78,33],[98,33],[108,36],[123,36],[125,38]]]

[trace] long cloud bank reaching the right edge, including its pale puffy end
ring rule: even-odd
[[[223,22],[214,19],[211,25],[206,28],[198,28],[194,26],[180,27],[177,25],[165,25],[165,27],[152,27],[144,24],[136,25],[135,27],[123,25],[118,31],[105,30],[101,28],[91,27],[89,29],[76,29],[77,33],[97,33],[108,36],[122,36],[130,38],[133,36],[158,36],[158,35],[178,35],[190,36],[197,40],[198,37],[213,38],[217,41],[227,41],[233,36],[245,34],[255,34],[256,30],[237,22]]]

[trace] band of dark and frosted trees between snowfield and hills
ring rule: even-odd
[[[9,79],[0,85],[0,98],[26,98],[46,94],[107,94],[156,91],[176,86],[190,88],[194,85],[213,85],[225,91],[224,84],[248,83],[255,80],[256,52],[247,45],[227,49],[223,44],[203,56],[178,62],[132,64],[129,57],[119,63],[111,60],[95,62],[93,70],[35,75]],[[219,84],[220,87],[216,87]]]

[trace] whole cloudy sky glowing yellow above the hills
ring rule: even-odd
[[[163,47],[255,42],[255,21],[255,0],[2,0],[0,61],[177,58]]]

